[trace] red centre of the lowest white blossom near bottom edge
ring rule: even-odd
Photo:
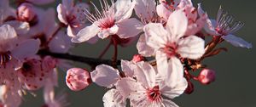
[[[160,102],[162,100],[162,97],[160,96],[159,86],[155,86],[151,89],[148,89],[147,94],[148,94],[148,99],[150,101]]]

